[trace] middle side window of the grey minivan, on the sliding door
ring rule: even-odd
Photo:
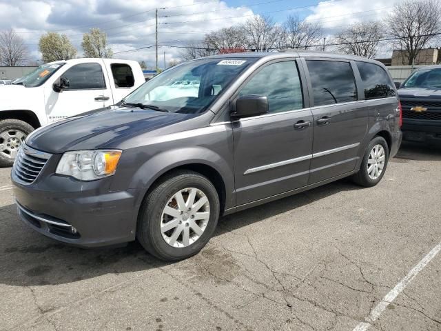
[[[349,62],[306,61],[311,77],[314,106],[356,101],[357,88]]]

